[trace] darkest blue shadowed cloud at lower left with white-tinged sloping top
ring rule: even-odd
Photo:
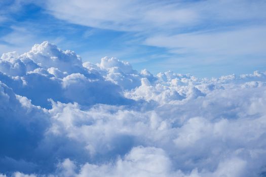
[[[17,96],[0,83],[0,166],[1,170],[31,171],[30,161],[37,144],[49,126],[47,111],[33,106],[26,97]]]

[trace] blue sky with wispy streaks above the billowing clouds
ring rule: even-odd
[[[266,2],[2,1],[0,53],[49,40],[83,61],[199,77],[266,68]]]

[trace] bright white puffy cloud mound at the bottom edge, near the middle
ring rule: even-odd
[[[115,163],[86,163],[78,173],[69,171],[76,167],[69,159],[64,160],[60,167],[63,167],[63,173],[67,171],[64,176],[169,176],[170,165],[170,159],[162,149],[135,147],[124,158],[118,158]]]

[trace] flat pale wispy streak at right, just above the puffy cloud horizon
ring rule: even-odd
[[[177,54],[207,56],[264,55],[265,27],[248,27],[228,31],[201,31],[167,36],[151,36],[146,45],[164,47]],[[233,47],[234,46],[234,47]]]

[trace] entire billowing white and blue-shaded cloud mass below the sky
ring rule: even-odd
[[[0,176],[266,174],[265,72],[155,76],[49,42],[0,71]]]

